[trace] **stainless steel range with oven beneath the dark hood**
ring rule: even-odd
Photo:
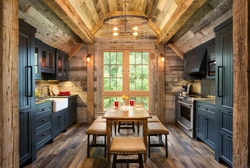
[[[208,98],[202,95],[178,96],[177,122],[180,128],[192,138],[195,132],[194,100],[196,99]]]

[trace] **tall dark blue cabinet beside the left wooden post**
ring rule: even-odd
[[[18,104],[20,165],[36,159],[34,44],[36,29],[19,20]]]

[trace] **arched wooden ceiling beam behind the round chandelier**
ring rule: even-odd
[[[120,16],[123,15],[122,11],[116,11],[116,12],[109,12],[102,20],[100,20],[99,23],[96,24],[96,26],[91,30],[92,34],[96,34],[96,32],[98,32],[98,30],[100,30],[103,26],[103,20],[106,19],[107,17],[114,17],[114,16]],[[128,11],[128,13],[126,13],[126,15],[135,15],[135,16],[145,16],[147,17],[145,14],[143,14],[140,11]],[[154,24],[150,19],[148,19],[148,26],[157,34],[159,35],[161,30],[159,29],[159,27]]]

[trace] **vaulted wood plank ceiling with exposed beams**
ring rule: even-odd
[[[149,39],[181,46],[187,33],[197,34],[230,11],[232,0],[19,0],[19,18],[37,28],[36,38],[75,53],[104,38],[103,20],[122,14],[125,2],[128,14],[148,18]]]

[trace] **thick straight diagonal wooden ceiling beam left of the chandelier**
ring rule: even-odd
[[[85,43],[94,43],[94,36],[68,0],[43,0]]]

